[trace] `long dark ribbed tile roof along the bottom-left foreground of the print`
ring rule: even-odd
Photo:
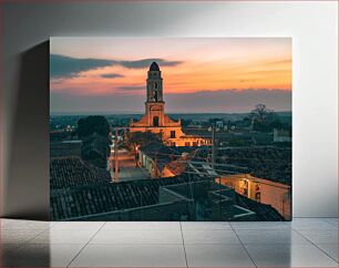
[[[158,203],[160,186],[187,183],[188,178],[181,176],[135,179],[117,184],[80,185],[71,188],[66,188],[66,181],[62,182],[65,183],[65,188],[51,190],[51,220],[155,205]]]

